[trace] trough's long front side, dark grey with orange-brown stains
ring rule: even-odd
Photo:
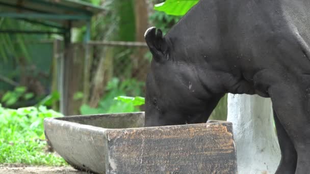
[[[107,173],[237,173],[227,122],[107,130]]]

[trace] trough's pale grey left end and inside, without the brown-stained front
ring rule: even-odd
[[[55,151],[75,168],[96,173],[106,173],[106,128],[142,127],[143,125],[144,112],[44,120],[45,136]]]

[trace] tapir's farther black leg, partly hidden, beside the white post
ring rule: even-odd
[[[291,174],[295,173],[297,165],[297,153],[294,148],[294,144],[291,141],[286,130],[280,123],[275,111],[273,111],[273,117],[275,122],[275,127],[277,129],[277,135],[279,140],[279,146],[281,149],[281,161],[278,166],[276,174]]]

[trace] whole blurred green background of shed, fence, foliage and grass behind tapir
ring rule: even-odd
[[[144,110],[144,33],[182,17],[153,10],[163,2],[0,0],[0,167],[67,165],[47,146],[44,118]],[[226,115],[225,96],[211,119]]]

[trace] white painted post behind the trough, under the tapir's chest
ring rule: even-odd
[[[281,155],[271,100],[228,94],[227,121],[233,123],[238,174],[274,173]]]

